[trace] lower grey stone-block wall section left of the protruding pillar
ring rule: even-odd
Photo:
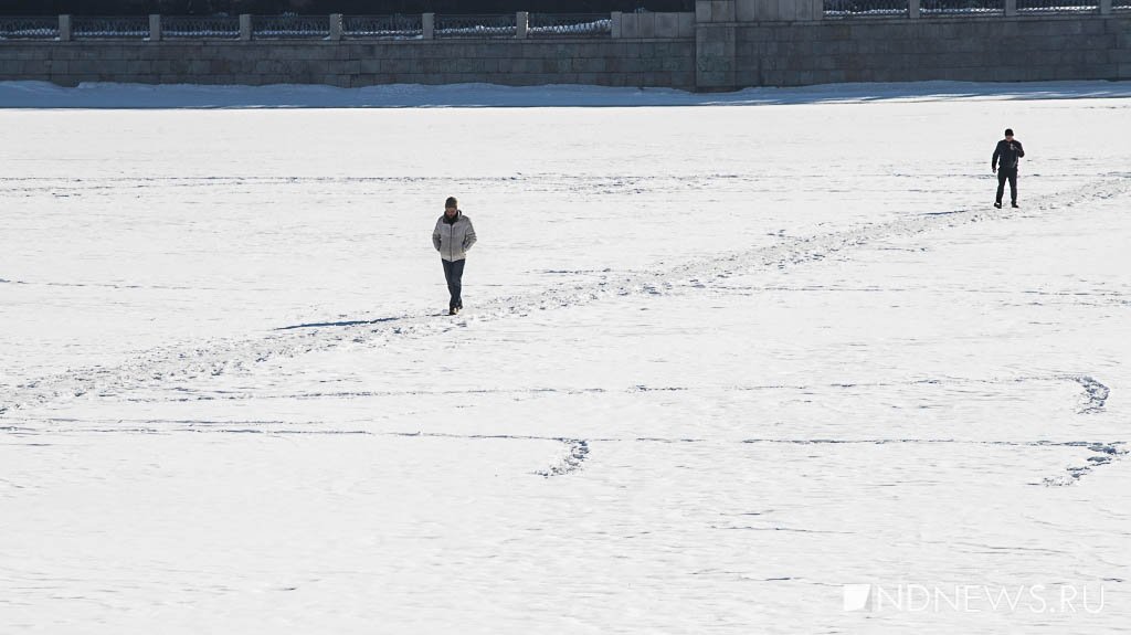
[[[3,42],[0,79],[139,84],[492,82],[694,88],[691,38]]]

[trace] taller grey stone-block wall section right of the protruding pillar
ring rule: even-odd
[[[1131,15],[735,27],[734,86],[1131,79]]]

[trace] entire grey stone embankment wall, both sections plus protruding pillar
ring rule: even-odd
[[[0,80],[731,90],[846,81],[1131,79],[1131,11],[739,19],[751,2],[783,7],[779,0],[701,1],[696,15],[628,18],[620,37],[593,40],[0,41]]]

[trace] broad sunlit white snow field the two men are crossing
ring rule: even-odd
[[[435,90],[0,110],[0,633],[1131,629],[1125,85]]]

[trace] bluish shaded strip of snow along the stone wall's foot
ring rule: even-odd
[[[972,84],[838,84],[803,88],[748,88],[696,94],[672,88],[601,86],[195,86],[0,81],[0,108],[365,108],[553,106],[743,106],[951,99],[1073,99],[1131,97],[1131,81]]]

